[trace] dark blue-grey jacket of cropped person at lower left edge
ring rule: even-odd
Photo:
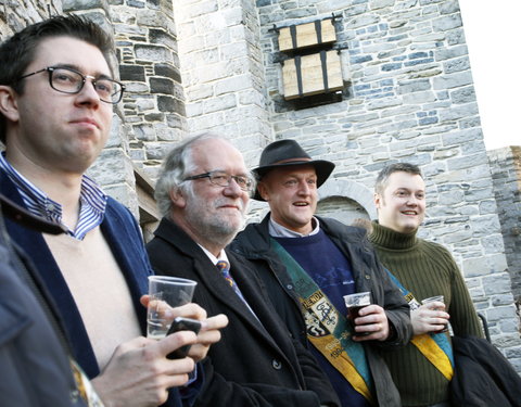
[[[31,266],[0,211],[0,407],[86,407],[75,396],[60,320]]]

